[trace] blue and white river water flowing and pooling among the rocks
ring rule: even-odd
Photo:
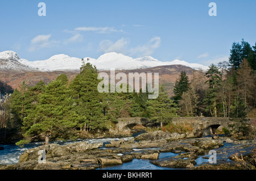
[[[137,136],[137,135],[134,135]],[[134,137],[125,137],[125,138],[97,138],[97,139],[86,139],[86,140],[77,140],[77,141],[87,141],[90,144],[92,143],[96,143],[96,142],[103,142],[104,146],[102,146],[100,149],[108,149],[105,147],[105,144],[109,144],[110,141],[112,140],[131,140]],[[57,143],[60,145],[65,145],[65,144],[70,144],[72,142],[77,142],[77,141],[56,141],[56,142],[51,142],[51,143]],[[10,165],[10,164],[15,164],[18,163],[19,161],[19,156],[27,149],[32,149],[35,147],[38,147],[40,145],[42,145],[43,142],[34,142],[31,144],[27,144],[24,145],[23,148],[20,148],[19,146],[16,145],[0,145],[1,147],[3,147],[3,150],[0,150],[0,165]],[[224,146],[221,146],[220,148],[217,148],[217,162],[231,162],[229,160],[229,156],[231,154],[234,154],[238,151],[244,151],[247,152],[249,150],[252,150],[253,148],[255,148],[255,145],[248,145],[247,147],[243,148],[241,147],[242,143],[228,143],[224,141]],[[151,149],[160,149],[160,148],[151,148]],[[143,149],[134,149],[134,151],[141,151]],[[167,152],[167,153],[160,153],[159,154],[159,159],[162,158],[168,158],[168,157],[175,157],[176,155],[178,155],[179,153],[171,153],[171,152]],[[209,163],[208,158],[209,158],[209,154],[205,153],[205,155],[201,155],[199,156],[195,161],[196,161],[196,165],[198,166],[200,164],[204,164],[204,163]],[[184,158],[185,159],[185,158]],[[127,162],[127,163],[123,163],[122,165],[115,165],[115,166],[108,166],[108,167],[101,167],[99,168],[99,170],[174,170],[172,168],[167,168],[167,167],[159,167],[156,165],[153,165],[152,163],[150,163],[150,161],[148,159],[133,159],[133,161],[131,162]]]

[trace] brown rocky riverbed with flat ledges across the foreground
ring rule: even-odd
[[[39,150],[46,153],[43,163],[39,159]],[[208,162],[209,150],[216,151],[217,163]],[[159,159],[159,153],[167,152],[176,153],[176,156]],[[156,166],[177,169],[255,169],[256,141],[218,136],[185,138],[183,134],[157,131],[140,134],[131,140],[111,141],[106,145],[85,141],[43,145],[24,151],[17,164],[2,165],[0,169],[94,170],[122,165],[133,159],[147,159]]]

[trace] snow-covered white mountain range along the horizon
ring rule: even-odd
[[[85,62],[89,57],[85,57]],[[10,69],[13,62],[15,64],[20,64],[22,68],[26,69],[38,69],[41,71],[53,71],[53,70],[73,70],[80,69],[82,65],[81,58],[69,57],[65,54],[57,54],[55,56],[50,57],[47,60],[38,60],[38,61],[28,61],[24,59],[20,59],[18,55],[13,51],[5,51],[0,53],[0,68]],[[3,65],[3,61],[9,60],[8,66]],[[7,61],[8,62],[8,61]],[[152,68],[155,66],[162,65],[185,65],[189,66],[193,69],[203,69],[207,70],[208,66],[200,65],[200,64],[190,64],[185,61],[174,60],[170,62],[162,62],[153,57],[146,56],[142,58],[132,58],[129,56],[125,56],[121,53],[105,53],[97,59],[89,58],[89,62],[92,65],[95,65],[98,70],[129,70],[129,69],[142,69],[142,68]],[[11,69],[18,69],[16,66]]]

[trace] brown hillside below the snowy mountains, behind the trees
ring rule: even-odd
[[[116,70],[115,74],[118,72],[123,72],[126,75],[129,73],[159,73],[159,84],[164,85],[166,90],[169,92],[170,96],[173,95],[174,83],[176,78],[179,77],[181,71],[185,71],[189,78],[192,77],[193,73],[197,74],[198,71],[188,66],[184,65],[165,65],[165,66],[156,66],[154,68],[146,68],[146,69],[135,69],[135,70]],[[110,74],[110,71],[104,71]],[[25,81],[28,86],[35,85],[38,81],[43,80],[45,83],[49,83],[52,80],[55,80],[57,76],[60,74],[66,74],[70,80],[76,77],[79,73],[77,71],[14,71],[8,70],[3,71],[0,70],[0,80],[9,84],[13,89],[18,89],[18,85]],[[128,77],[128,76],[127,76]],[[117,80],[118,81],[118,80]]]

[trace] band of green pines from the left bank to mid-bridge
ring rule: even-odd
[[[149,117],[163,124],[176,116],[176,104],[168,97],[164,86],[159,87],[158,99],[148,99],[148,92],[110,92],[97,90],[98,70],[82,60],[80,73],[73,80],[59,75],[46,85],[26,82],[14,90],[10,99],[10,120],[20,124],[23,139],[17,145],[44,138],[75,140],[82,131],[104,132],[117,123],[118,117]],[[129,90],[128,85],[126,86]],[[110,86],[109,86],[110,87]]]

